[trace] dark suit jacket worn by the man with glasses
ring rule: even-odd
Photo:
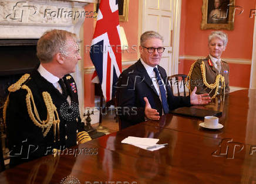
[[[190,106],[190,96],[178,97],[171,92],[164,68],[157,66],[166,85],[169,109]],[[153,82],[139,60],[124,70],[116,83],[117,113],[122,121],[121,129],[145,121],[144,97],[149,99],[151,108],[162,114],[162,104]],[[120,108],[122,107],[122,108]]]

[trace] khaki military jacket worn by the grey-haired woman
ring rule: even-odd
[[[193,71],[190,76],[190,88],[191,91],[193,91],[194,87],[197,86],[197,94],[203,94],[203,93],[209,93],[210,96],[213,96],[215,93],[215,89],[211,90],[210,88],[207,88],[206,85],[204,85],[203,77],[201,73],[200,64],[204,62],[204,65],[206,66],[206,81],[208,84],[213,84],[215,82],[215,79],[218,74],[221,74],[225,78],[225,93],[230,92],[229,87],[229,80],[228,76],[230,73],[230,68],[228,67],[228,64],[221,60],[221,71],[220,73],[218,70],[214,67],[210,57],[206,57],[205,59],[199,59],[196,61],[196,64],[194,65]],[[221,82],[220,82],[221,86]],[[218,89],[218,94],[223,95],[224,90],[221,91],[221,88]]]

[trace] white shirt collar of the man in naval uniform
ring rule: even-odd
[[[39,74],[45,78],[48,82],[52,83],[53,86],[55,86],[56,89],[58,89],[58,91],[62,94],[62,88],[59,84],[59,78],[56,77],[55,75],[51,74],[48,70],[46,70],[42,64],[39,65],[38,67],[38,72]],[[71,99],[70,96],[68,96],[67,101],[69,103],[69,105],[71,104]]]

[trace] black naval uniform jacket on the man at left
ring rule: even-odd
[[[53,126],[50,128],[46,137],[43,137],[42,129],[35,126],[29,117],[26,105],[26,94],[28,92],[25,89],[19,89],[10,93],[9,105],[6,109],[6,126],[11,166],[42,157],[43,155],[52,154],[51,150],[53,148],[62,150],[63,148],[76,145],[76,133],[77,131],[83,131],[84,126],[80,121],[78,93],[75,90],[75,81],[71,75],[65,75],[63,81],[72,103],[77,107],[72,106],[72,112],[68,112],[69,105],[63,95],[50,82],[43,78],[37,70],[34,70],[31,77],[25,82],[25,85],[32,91],[41,120],[47,119],[47,110],[43,101],[42,92],[46,91],[50,94],[52,102],[57,108],[60,119],[60,141],[56,138],[55,143],[53,142]]]

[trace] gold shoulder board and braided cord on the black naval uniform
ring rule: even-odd
[[[56,139],[56,126],[57,126],[58,141],[59,141],[59,122],[60,122],[60,120],[59,120],[59,115],[58,115],[56,106],[53,104],[52,98],[50,97],[50,94],[48,92],[43,92],[42,96],[43,96],[43,101],[45,102],[46,109],[47,109],[47,119],[46,120],[41,120],[40,119],[39,114],[38,114],[38,110],[36,109],[36,105],[35,105],[35,102],[34,102],[34,99],[33,99],[31,89],[29,89],[29,87],[27,85],[22,85],[23,82],[25,82],[29,78],[29,76],[30,76],[29,74],[23,75],[21,77],[21,79],[19,79],[18,82],[9,86],[8,91],[9,92],[15,92],[20,88],[25,89],[28,92],[26,94],[26,106],[27,106],[27,109],[28,109],[29,117],[31,118],[31,120],[33,121],[35,126],[38,126],[42,129],[43,137],[45,137],[48,134],[48,132],[50,130],[50,127],[52,127],[52,124],[53,124],[54,141]],[[33,111],[32,111],[31,102],[33,104]],[[8,103],[9,103],[9,95],[8,95],[6,101],[5,101],[4,110],[3,110],[4,123],[5,123],[5,120],[6,120],[6,109],[7,109]],[[35,114],[33,114],[33,112],[35,112]]]

